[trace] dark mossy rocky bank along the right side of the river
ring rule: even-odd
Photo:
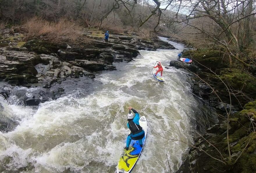
[[[208,124],[206,132],[195,138],[177,172],[255,172],[256,102],[248,102],[256,99],[254,68],[234,68],[215,50],[190,50],[184,55],[193,63],[171,61],[170,66],[193,73],[193,93],[215,108],[218,123]]]

